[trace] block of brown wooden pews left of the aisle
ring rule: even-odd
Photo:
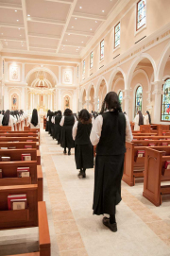
[[[40,129],[0,130],[0,230],[39,228],[39,251],[17,256],[50,256],[39,146]],[[21,176],[25,168],[29,175]],[[26,195],[25,209],[8,210],[8,199],[14,195]]]

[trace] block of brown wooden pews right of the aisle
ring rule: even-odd
[[[144,127],[144,126],[143,126]],[[143,129],[144,130],[144,129]],[[133,132],[133,141],[126,143],[123,180],[134,186],[135,180],[144,178],[143,196],[155,206],[161,205],[162,195],[170,195],[170,130],[163,126],[163,133]]]

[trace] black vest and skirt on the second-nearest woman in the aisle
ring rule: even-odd
[[[92,124],[78,122],[75,140],[76,169],[93,168],[93,145],[90,141]]]

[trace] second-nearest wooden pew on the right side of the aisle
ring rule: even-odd
[[[125,154],[124,174],[123,180],[129,185],[135,185],[136,178],[144,177],[144,158],[137,158],[138,150],[145,150],[149,144],[155,144],[156,146],[162,143],[170,145],[169,140],[152,140],[152,141],[133,141],[132,143],[126,143],[127,152]],[[170,146],[169,146],[170,149]]]

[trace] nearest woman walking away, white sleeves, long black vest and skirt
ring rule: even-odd
[[[129,121],[121,110],[116,93],[110,92],[106,95],[101,114],[93,122],[90,139],[93,145],[97,145],[93,214],[110,214],[110,218],[103,218],[103,224],[115,232],[117,231],[115,208],[122,200],[121,179],[124,170],[125,143],[132,141]]]

